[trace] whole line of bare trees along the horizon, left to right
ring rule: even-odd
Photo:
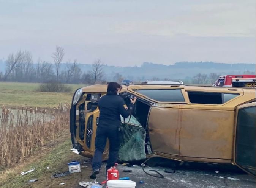
[[[65,64],[63,59],[65,50],[56,46],[52,53],[52,62],[38,60],[33,62],[32,54],[29,51],[18,51],[9,54],[5,61],[5,71],[0,72],[0,81],[8,82],[37,82],[37,83],[62,83],[62,84],[105,84],[107,81],[115,81],[121,83],[123,79],[132,79],[122,76],[120,73],[114,73],[111,78],[106,81],[104,75],[104,64],[101,59],[96,59],[92,63],[90,71],[82,71],[76,59],[69,60]],[[245,74],[255,74],[246,71]],[[113,77],[112,77],[113,76]],[[140,75],[138,75],[140,76]],[[193,78],[182,80],[185,84],[213,84],[220,75],[218,73],[198,73]],[[136,83],[149,81],[177,81],[177,79],[157,77],[145,78],[138,77]]]

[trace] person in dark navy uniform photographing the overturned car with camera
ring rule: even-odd
[[[107,138],[109,139],[109,159],[106,170],[115,165],[118,159],[120,147],[119,131],[121,126],[121,117],[128,118],[133,111],[137,98],[130,99],[128,106],[123,98],[119,96],[122,86],[117,82],[109,82],[107,86],[107,95],[101,97],[99,101],[100,117],[95,138],[95,153],[92,160],[91,179],[96,179],[100,173],[102,164],[102,155],[106,147]]]

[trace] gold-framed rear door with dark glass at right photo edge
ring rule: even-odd
[[[253,176],[255,173],[255,102],[236,109],[234,163]]]

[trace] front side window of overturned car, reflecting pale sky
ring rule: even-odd
[[[155,101],[160,102],[185,102],[181,89],[152,89],[138,90],[137,92]]]

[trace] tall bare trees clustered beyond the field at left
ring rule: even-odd
[[[0,81],[8,82],[59,82],[67,84],[96,84],[106,82],[103,79],[103,64],[97,59],[92,70],[82,72],[77,60],[63,64],[65,50],[57,46],[52,53],[53,64],[38,60],[33,62],[29,51],[18,51],[9,54],[5,61],[5,71],[0,72]]]

